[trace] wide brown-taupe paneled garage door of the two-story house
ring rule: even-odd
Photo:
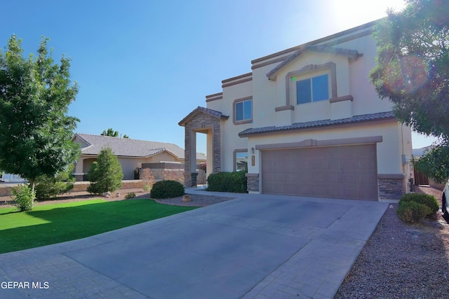
[[[262,193],[377,200],[376,146],[262,151]]]

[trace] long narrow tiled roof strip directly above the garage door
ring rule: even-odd
[[[248,135],[269,133],[269,132],[280,132],[288,130],[300,130],[309,127],[323,127],[328,125],[339,125],[344,123],[361,123],[369,120],[380,120],[383,118],[395,118],[394,113],[391,111],[363,114],[361,116],[353,116],[351,118],[342,118],[337,120],[315,120],[309,121],[307,123],[294,123],[293,125],[286,125],[282,127],[256,127],[254,129],[247,129],[239,133],[239,137],[247,137]]]

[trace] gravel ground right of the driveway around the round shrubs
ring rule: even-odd
[[[441,191],[419,187],[440,200]],[[406,224],[390,204],[334,298],[449,298],[449,217]]]

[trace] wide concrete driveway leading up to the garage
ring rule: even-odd
[[[333,298],[388,206],[231,196],[237,198],[1,254],[0,298]]]

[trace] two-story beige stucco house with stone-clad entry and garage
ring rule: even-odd
[[[253,60],[182,119],[186,185],[196,184],[196,133],[208,172],[248,169],[248,192],[398,200],[408,192],[412,140],[381,100],[375,22]],[[248,165],[246,167],[246,165]]]

